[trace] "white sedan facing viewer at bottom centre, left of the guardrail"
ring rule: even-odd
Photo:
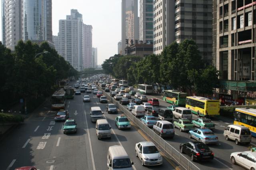
[[[142,166],[162,165],[163,158],[151,141],[135,144],[135,154],[142,161]]]

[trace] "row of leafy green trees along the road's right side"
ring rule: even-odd
[[[102,68],[118,79],[127,79],[131,84],[146,83],[171,85],[180,91],[192,89],[198,94],[213,93],[218,84],[219,71],[204,63],[194,40],[173,42],[161,55],[136,56],[114,55],[106,59]]]

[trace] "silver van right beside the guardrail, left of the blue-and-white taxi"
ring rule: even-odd
[[[173,124],[169,121],[156,121],[153,130],[161,137],[173,138],[175,135]]]

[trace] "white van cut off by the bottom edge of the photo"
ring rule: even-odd
[[[133,162],[123,146],[116,145],[108,148],[107,166],[109,170],[132,170],[132,165]]]

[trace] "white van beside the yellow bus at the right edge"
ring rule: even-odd
[[[234,140],[236,144],[250,144],[252,135],[248,127],[241,125],[228,125],[223,133],[226,140]]]

